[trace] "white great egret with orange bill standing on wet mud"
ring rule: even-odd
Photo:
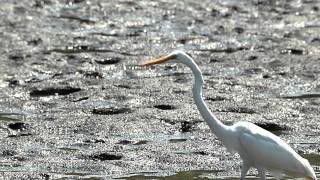
[[[239,153],[243,161],[240,179],[245,179],[251,167],[258,170],[261,179],[265,179],[266,170],[276,178],[286,174],[291,177],[316,179],[308,160],[302,158],[278,136],[250,122],[237,122],[232,126],[227,126],[219,121],[210,112],[202,98],[204,81],[199,67],[183,51],[173,51],[167,56],[146,61],[142,66],[166,62],[182,63],[192,70],[194,75],[192,92],[197,108],[210,129],[227,149]]]

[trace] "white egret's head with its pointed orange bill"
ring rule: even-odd
[[[162,63],[182,63],[186,65],[194,64],[192,58],[188,54],[180,50],[175,50],[166,56],[146,61],[142,64],[142,66],[150,66]]]

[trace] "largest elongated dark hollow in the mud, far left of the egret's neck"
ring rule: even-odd
[[[30,92],[30,96],[52,96],[52,95],[68,95],[74,92],[81,91],[81,88],[66,86],[66,87],[47,87],[44,89],[34,89]]]

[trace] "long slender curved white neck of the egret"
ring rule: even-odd
[[[208,123],[210,129],[213,133],[219,138],[224,139],[224,134],[227,133],[228,126],[224,125],[221,121],[219,121],[209,110],[208,106],[203,100],[202,97],[202,85],[204,83],[203,77],[199,67],[192,63],[188,65],[193,74],[194,74],[194,81],[192,87],[193,99],[197,105],[197,108],[203,117],[203,119]]]

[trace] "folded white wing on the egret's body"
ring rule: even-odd
[[[240,143],[248,160],[254,164],[286,173],[304,173],[303,158],[272,133],[245,132],[240,136]]]

